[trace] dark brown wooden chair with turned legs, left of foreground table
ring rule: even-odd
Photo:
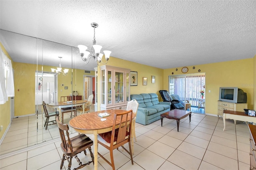
[[[60,144],[60,148],[63,152],[62,160],[60,163],[60,169],[62,169],[62,167],[64,165],[64,161],[67,160],[68,161],[68,170],[70,170],[71,165],[72,165],[72,158],[74,156],[76,158],[76,161],[80,165],[77,168],[74,168],[74,170],[83,168],[84,166],[89,165],[92,162],[94,164],[94,156],[93,156],[92,148],[91,148],[91,146],[93,145],[93,141],[85,134],[79,134],[78,136],[74,136],[74,137],[70,138],[69,133],[68,133],[68,130],[69,130],[68,125],[61,123],[59,117],[56,118],[56,122],[57,122],[59,130],[60,130],[60,138],[61,138],[61,142],[62,142]],[[65,136],[64,131],[66,131],[66,136]],[[90,151],[90,156],[92,158],[92,161],[82,164],[82,162],[80,162],[80,159],[77,157],[77,154],[84,151],[84,154],[86,155],[87,148]]]

